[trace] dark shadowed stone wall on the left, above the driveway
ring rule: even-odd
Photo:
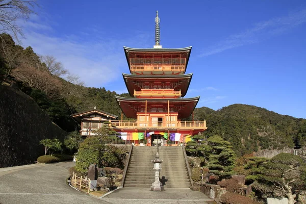
[[[35,163],[44,154],[40,140],[66,134],[30,96],[0,85],[0,168]]]

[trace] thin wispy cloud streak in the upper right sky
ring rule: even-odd
[[[199,57],[206,57],[221,53],[226,49],[239,47],[246,44],[252,44],[263,41],[275,35],[280,35],[290,31],[290,29],[306,22],[306,9],[290,13],[286,17],[273,18],[253,25],[252,28],[234,34],[220,41],[216,45],[209,47]]]

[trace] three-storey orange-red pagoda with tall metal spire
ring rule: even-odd
[[[200,98],[183,98],[192,79],[192,73],[185,74],[192,47],[162,48],[158,11],[154,47],[123,48],[130,74],[122,75],[132,97],[115,97],[124,115],[137,120],[124,121],[121,116],[111,121],[122,138],[135,143],[147,139],[146,145],[157,138],[163,144],[167,140],[178,144],[207,129],[206,121],[182,120],[192,114]]]

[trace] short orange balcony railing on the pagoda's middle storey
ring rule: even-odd
[[[174,91],[173,89],[164,89],[164,90],[152,90],[152,89],[142,89],[141,91],[134,90],[134,96],[169,96],[169,97],[175,97],[179,98],[182,96],[181,90],[180,91]]]

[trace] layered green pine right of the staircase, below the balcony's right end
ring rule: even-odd
[[[235,166],[235,152],[231,143],[217,135],[208,138],[207,141],[207,153],[209,154],[207,167],[210,172],[220,178],[232,175]]]

